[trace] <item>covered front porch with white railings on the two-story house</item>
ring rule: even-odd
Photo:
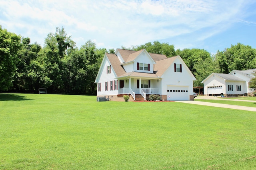
[[[161,94],[161,80],[159,78],[128,77],[119,79],[118,94],[131,94],[136,100],[136,94],[143,96],[146,100],[147,94]]]

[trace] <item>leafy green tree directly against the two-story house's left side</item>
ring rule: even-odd
[[[96,44],[88,40],[81,48],[68,57],[70,90],[76,94],[96,94],[95,78],[106,49],[96,49]]]

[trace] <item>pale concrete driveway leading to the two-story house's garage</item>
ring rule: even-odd
[[[197,96],[196,98],[204,99],[204,100],[232,100],[232,101],[254,102],[254,103],[256,103],[256,101],[217,98],[217,97],[214,97],[214,96]],[[256,107],[237,106],[237,105],[230,105],[230,104],[218,104],[218,103],[210,103],[210,102],[199,102],[199,101],[196,101],[196,100],[194,100],[194,101],[175,101],[175,102],[188,103],[188,104],[197,104],[197,105],[204,105],[204,106],[213,106],[213,107],[223,107],[223,108],[246,110],[246,111],[256,111]]]

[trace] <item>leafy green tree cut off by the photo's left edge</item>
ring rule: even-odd
[[[0,90],[8,90],[12,86],[17,53],[21,48],[20,36],[2,29],[0,25]]]

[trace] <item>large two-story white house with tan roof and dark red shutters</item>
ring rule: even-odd
[[[130,101],[146,100],[149,94],[162,100],[194,100],[194,80],[180,56],[116,49],[115,54],[104,55],[95,82],[97,97],[112,101],[123,101],[124,94],[131,95]]]

